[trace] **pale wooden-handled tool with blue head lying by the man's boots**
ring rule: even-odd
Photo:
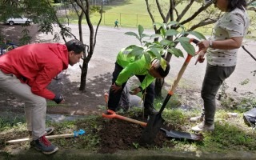
[[[74,134],[56,134],[56,135],[47,135],[47,139],[57,139],[57,138],[72,138],[72,137],[78,137],[78,135],[85,134],[86,132],[84,130],[74,131]],[[7,143],[10,144],[16,144],[20,142],[31,142],[32,138],[21,138],[21,139],[14,139],[7,141]]]

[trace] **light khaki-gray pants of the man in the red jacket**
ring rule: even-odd
[[[45,134],[46,99],[31,92],[30,86],[20,82],[14,74],[4,74],[0,70],[0,88],[22,98],[25,102],[27,129],[32,131],[33,139]]]

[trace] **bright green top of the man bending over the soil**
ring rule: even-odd
[[[123,54],[122,52],[123,50],[118,53],[117,63],[118,65],[122,66],[123,70],[118,75],[115,83],[118,86],[121,86],[122,83],[127,82],[128,79],[134,75],[146,75],[141,84],[142,90],[144,90],[147,86],[150,85],[151,82],[154,81],[154,77],[152,77],[149,73],[151,64],[146,62],[144,56],[135,61],[134,57],[128,58],[127,54]]]

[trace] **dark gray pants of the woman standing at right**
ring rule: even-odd
[[[207,64],[202,82],[201,96],[204,102],[205,123],[214,124],[216,110],[215,96],[223,81],[234,72],[235,66],[212,66]]]

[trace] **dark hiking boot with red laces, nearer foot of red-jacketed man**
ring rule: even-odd
[[[43,154],[53,154],[58,150],[58,147],[51,144],[46,136],[33,140],[31,143],[34,144],[33,146],[36,150],[42,151]]]

